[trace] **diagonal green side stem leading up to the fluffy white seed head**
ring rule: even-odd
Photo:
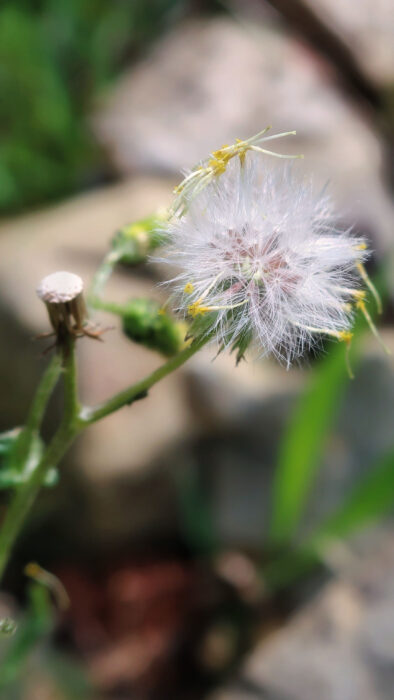
[[[191,345],[182,350],[178,355],[172,357],[164,365],[161,365],[152,374],[149,374],[141,381],[133,384],[124,391],[115,394],[112,398],[108,399],[104,403],[96,406],[94,408],[85,407],[82,409],[80,418],[85,425],[91,425],[105,416],[109,416],[114,413],[122,406],[133,403],[141,396],[144,396],[146,392],[154,385],[157,384],[161,379],[164,379],[168,374],[171,374],[174,370],[181,367],[190,357],[192,357],[198,350],[200,350],[203,345],[207,342],[207,338],[202,340],[194,340]]]

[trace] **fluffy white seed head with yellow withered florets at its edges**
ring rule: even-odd
[[[233,158],[169,220],[167,236],[166,261],[180,268],[178,307],[220,347],[242,355],[254,340],[259,354],[288,366],[325,335],[349,343],[357,309],[377,334],[365,304],[365,286],[380,304],[363,266],[365,241],[288,165]]]

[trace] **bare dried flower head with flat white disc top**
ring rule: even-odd
[[[88,335],[98,338],[100,331],[93,330],[87,320],[83,281],[72,272],[53,272],[41,280],[37,287],[38,297],[45,303],[56,343],[64,342],[68,335]]]

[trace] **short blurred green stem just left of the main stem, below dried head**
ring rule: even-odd
[[[56,353],[46,368],[35,393],[25,426],[16,441],[13,453],[10,457],[12,465],[22,470],[29,456],[31,444],[38,434],[47,403],[62,371],[62,358]]]

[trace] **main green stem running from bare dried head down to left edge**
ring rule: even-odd
[[[31,470],[27,481],[23,482],[15,491],[4,522],[2,523],[0,530],[0,579],[4,574],[14,542],[23,527],[24,520],[36,499],[48,470],[59,463],[74,438],[82,430],[82,424],[78,415],[79,403],[77,398],[74,344],[75,340],[70,339],[69,343],[64,348],[63,420],[41,460],[35,468]],[[56,363],[53,363],[54,375],[55,364]],[[46,382],[44,382],[44,384],[46,384]],[[50,385],[51,383],[48,379],[46,386],[49,387]],[[44,396],[44,393],[42,395]],[[33,406],[35,403],[34,401]],[[34,420],[33,418],[31,419],[33,426],[37,421],[40,411],[41,413],[43,411],[40,402],[37,402],[36,409],[37,410],[33,412]]]

